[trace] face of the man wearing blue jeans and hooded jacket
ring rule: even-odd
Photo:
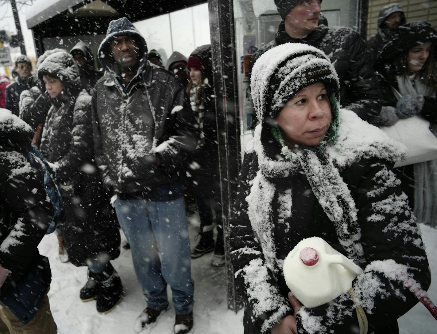
[[[118,36],[109,43],[115,62],[124,69],[133,69],[139,62],[139,46],[134,36]]]

